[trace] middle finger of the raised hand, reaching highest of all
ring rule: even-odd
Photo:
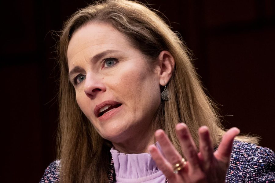
[[[182,152],[189,161],[190,167],[200,167],[199,158],[197,155],[197,148],[193,138],[188,130],[188,127],[184,123],[176,125],[176,132],[179,138],[179,142],[182,146]]]

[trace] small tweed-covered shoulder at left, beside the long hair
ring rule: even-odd
[[[60,160],[53,161],[46,168],[43,177],[40,179],[40,183],[58,183],[60,172]]]

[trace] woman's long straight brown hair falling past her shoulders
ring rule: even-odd
[[[155,114],[154,130],[163,129],[181,152],[175,135],[175,124],[184,122],[199,144],[198,128],[209,127],[214,146],[225,131],[215,106],[203,91],[188,50],[170,27],[153,11],[139,2],[107,0],[96,2],[74,13],[64,23],[59,41],[60,117],[58,158],[61,159],[62,182],[108,182],[111,142],[101,138],[80,110],[75,90],[68,80],[67,49],[71,36],[89,22],[110,23],[126,35],[148,60],[156,60],[161,51],[169,51],[175,60],[173,76],[168,83],[170,99],[162,101]],[[256,142],[244,136],[240,140]]]

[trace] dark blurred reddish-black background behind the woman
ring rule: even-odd
[[[145,2],[145,1],[142,1]],[[149,0],[193,51],[226,128],[275,150],[275,1]],[[56,158],[55,34],[90,1],[2,2],[1,182],[39,182]]]

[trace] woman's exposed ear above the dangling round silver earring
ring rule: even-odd
[[[168,51],[160,52],[158,57],[160,73],[159,73],[159,80],[160,85],[164,86],[168,83],[168,81],[172,77],[172,73],[174,71],[175,60],[174,57]]]

